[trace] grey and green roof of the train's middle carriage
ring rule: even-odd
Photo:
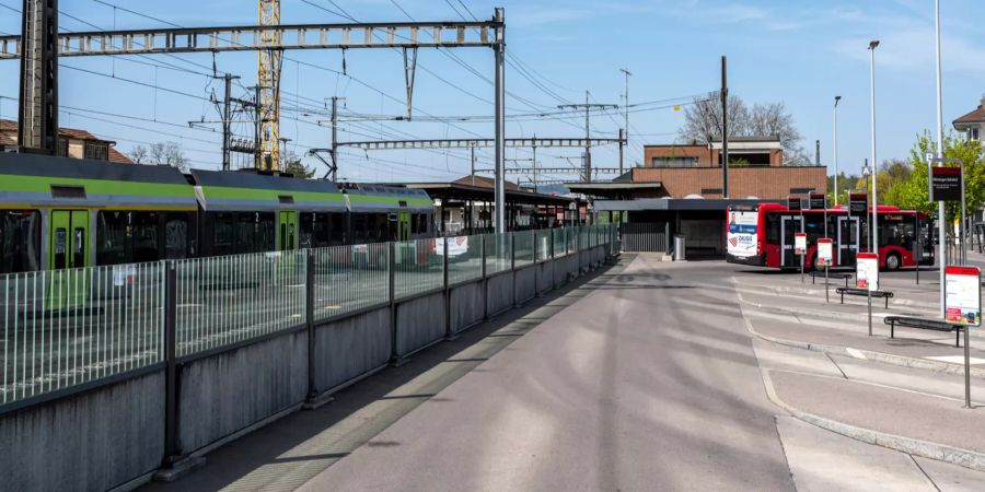
[[[338,185],[253,172],[192,169],[196,195],[209,212],[301,210],[344,212]]]

